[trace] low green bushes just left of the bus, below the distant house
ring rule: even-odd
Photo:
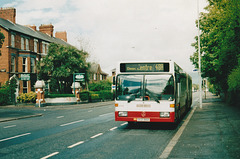
[[[88,88],[90,91],[111,90],[112,83],[108,80],[102,80],[89,84]]]

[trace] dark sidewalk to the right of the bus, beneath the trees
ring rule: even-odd
[[[240,158],[240,107],[208,94],[168,158]]]

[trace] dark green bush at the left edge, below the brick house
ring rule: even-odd
[[[0,105],[15,103],[16,80],[7,81],[0,88]]]

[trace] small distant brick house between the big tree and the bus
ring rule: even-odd
[[[102,71],[100,65],[96,63],[91,64],[89,74],[90,74],[90,83],[106,80],[108,76],[107,73]]]

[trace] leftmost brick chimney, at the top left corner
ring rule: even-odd
[[[16,23],[16,9],[15,8],[1,8],[0,18]]]

